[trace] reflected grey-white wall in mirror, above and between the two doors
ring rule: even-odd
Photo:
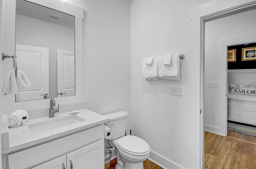
[[[66,26],[16,14],[16,44],[49,48],[50,97],[58,97],[58,49],[74,51],[74,32]]]

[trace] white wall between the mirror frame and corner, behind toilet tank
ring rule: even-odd
[[[130,113],[130,2],[65,0],[84,8],[83,98],[99,114]]]

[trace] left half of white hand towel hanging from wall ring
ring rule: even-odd
[[[16,94],[18,92],[18,87],[15,77],[15,69],[7,73],[3,85],[3,94]]]

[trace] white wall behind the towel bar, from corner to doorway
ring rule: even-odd
[[[146,140],[150,158],[168,169],[199,169],[198,58],[191,55],[190,9],[208,1],[135,0],[131,3],[131,115],[133,134]],[[181,79],[146,81],[141,61],[185,54]],[[170,95],[181,86],[182,96]],[[180,166],[180,167],[179,167]]]

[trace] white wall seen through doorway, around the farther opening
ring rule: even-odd
[[[220,87],[208,87],[208,82],[219,82],[220,84],[220,39],[255,34],[255,15],[256,10],[251,10],[205,24],[205,130],[218,133],[219,128],[222,127],[220,118],[225,113],[220,109]],[[240,54],[237,53],[237,57],[239,56]]]

